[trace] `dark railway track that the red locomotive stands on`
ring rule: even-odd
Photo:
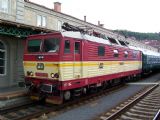
[[[90,101],[96,100],[97,97],[102,97],[106,94],[110,94],[116,90],[122,89],[126,87],[126,85],[117,85],[112,88],[106,89],[104,91],[100,91],[95,94],[89,94],[84,97],[79,97],[73,101],[68,101],[62,105],[50,105],[50,104],[30,104],[24,105],[20,107],[14,107],[7,110],[1,110],[0,120],[29,120],[32,118],[37,118],[45,115],[50,112],[61,113],[66,111],[67,109],[72,109],[74,107],[79,107],[81,105],[90,103]]]

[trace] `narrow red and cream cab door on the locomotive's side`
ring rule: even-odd
[[[74,78],[82,77],[82,41],[74,41]]]

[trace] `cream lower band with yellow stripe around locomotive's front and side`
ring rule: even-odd
[[[60,81],[139,70],[141,61],[24,62],[26,77]],[[54,77],[57,74],[57,77]]]

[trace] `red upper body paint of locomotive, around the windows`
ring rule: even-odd
[[[57,37],[61,39],[60,43],[60,51],[58,53],[45,53],[45,52],[35,52],[35,53],[29,53],[27,52],[27,46],[25,47],[25,53],[24,53],[24,61],[37,61],[36,56],[43,55],[44,59],[43,61],[130,61],[130,60],[139,60],[141,61],[141,51],[133,50],[128,47],[122,47],[119,45],[106,45],[102,43],[96,43],[93,41],[88,40],[78,40],[76,38],[69,38],[69,37],[62,37],[60,33],[56,34],[45,34],[45,35],[35,35],[30,36],[27,39],[26,44],[28,41],[33,39],[41,39],[44,40],[46,38],[52,38]],[[64,41],[69,40],[70,41],[70,53],[64,54]],[[74,59],[74,42],[80,41],[81,42],[81,60],[80,59]],[[43,43],[42,43],[43,44]],[[83,44],[83,47],[82,47]],[[98,46],[105,46],[105,55],[104,56],[98,56],[97,54],[97,47]],[[113,50],[119,51],[119,57],[115,58]],[[124,51],[128,51],[128,57],[124,58]],[[136,52],[137,57],[133,58],[133,52]]]

